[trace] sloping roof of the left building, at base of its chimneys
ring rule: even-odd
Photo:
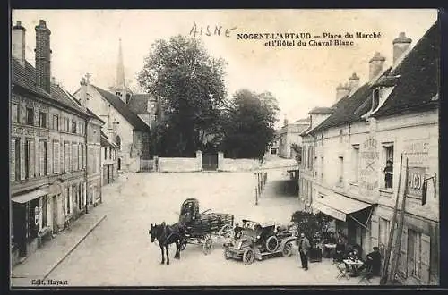
[[[25,66],[23,67],[17,60],[12,59],[11,71],[13,84],[29,89],[37,93],[40,97],[45,97],[49,102],[57,102],[70,107],[77,113],[88,114],[80,105],[77,105],[59,85],[51,83],[50,94],[44,89],[41,89],[36,83],[36,69],[30,63],[25,61]]]

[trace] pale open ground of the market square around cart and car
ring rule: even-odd
[[[50,267],[51,261],[45,262],[46,255],[31,256],[29,261],[13,269],[17,276],[13,278],[13,286],[30,286],[31,279],[43,278],[46,274],[46,280],[67,280],[69,286],[358,284],[358,278],[336,280],[337,270],[330,259],[312,263],[309,271],[304,272],[299,267],[297,253],[293,257],[273,257],[247,266],[236,260],[225,260],[218,241],[207,256],[202,253],[202,247],[187,245],[180,260],[174,259],[176,247],[171,246],[171,264],[159,264],[160,250],[157,244],[151,244],[148,229],[151,223],[176,223],[185,198],[198,198],[200,211],[211,209],[211,212],[234,214],[237,221],[247,217],[289,223],[298,201],[297,197],[279,194],[288,177],[286,170],[267,171],[268,181],[257,206],[254,205],[253,172],[123,174],[119,181],[103,188],[103,204],[90,214],[107,217],[85,240],[54,269]],[[63,237],[58,236],[52,242],[58,239]],[[62,250],[51,244],[47,249]],[[47,259],[55,260],[54,256],[47,255]],[[30,270],[32,265],[45,263],[49,265],[41,270],[40,276],[39,267],[34,273]]]

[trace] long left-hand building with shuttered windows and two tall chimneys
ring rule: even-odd
[[[51,31],[42,20],[35,30],[36,67],[26,61],[21,22],[12,31],[13,263],[88,210],[86,137],[95,119],[51,79]]]

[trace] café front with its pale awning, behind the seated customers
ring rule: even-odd
[[[338,194],[318,198],[313,202],[314,210],[332,217],[335,230],[349,247],[361,246],[361,257],[372,251],[370,239],[370,219],[375,204],[369,204]]]

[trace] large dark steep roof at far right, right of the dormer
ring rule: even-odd
[[[403,111],[434,109],[439,91],[440,27],[438,21],[426,31],[390,75],[398,76],[395,88],[374,117]]]

